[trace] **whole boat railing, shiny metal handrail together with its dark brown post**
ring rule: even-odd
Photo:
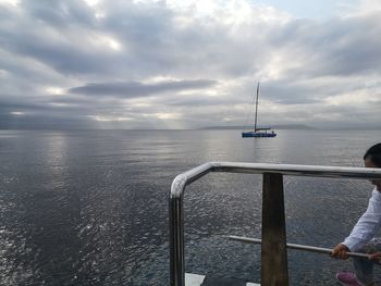
[[[381,179],[380,169],[238,162],[209,162],[177,175],[172,183],[169,197],[171,286],[185,286],[183,211],[185,187],[210,172],[263,174],[262,286],[288,285],[283,175]]]

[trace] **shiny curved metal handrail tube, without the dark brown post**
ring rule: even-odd
[[[185,285],[183,197],[185,187],[210,172],[282,174],[334,178],[381,179],[381,169],[243,162],[208,162],[177,175],[171,186],[170,200],[170,281]]]

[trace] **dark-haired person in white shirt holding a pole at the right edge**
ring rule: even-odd
[[[381,144],[366,151],[364,163],[366,167],[381,167]],[[376,286],[373,265],[381,258],[381,238],[374,238],[376,233],[381,229],[381,179],[372,179],[371,183],[376,187],[366,212],[358,220],[349,236],[333,248],[331,257],[347,259],[349,251],[372,254],[369,254],[369,259],[354,258],[355,273],[339,272],[336,278],[342,285]]]

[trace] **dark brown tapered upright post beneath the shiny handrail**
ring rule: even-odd
[[[287,250],[282,174],[263,174],[261,285],[287,286]]]

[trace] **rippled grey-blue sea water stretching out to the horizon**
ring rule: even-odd
[[[0,130],[1,285],[168,285],[168,194],[208,161],[362,166],[380,132]],[[333,247],[365,211],[367,181],[284,177],[288,243]],[[260,279],[261,176],[186,189],[186,271]],[[288,251],[291,285],[336,285],[351,261]],[[379,270],[378,275],[381,277]]]

